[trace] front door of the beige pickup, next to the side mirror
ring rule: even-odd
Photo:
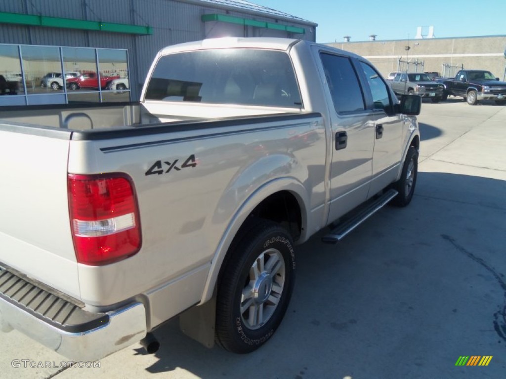
[[[394,113],[394,102],[388,85],[368,63],[360,61],[367,81],[366,99],[373,112],[374,152],[372,180],[368,197],[395,181],[401,164],[404,117]],[[364,90],[365,91],[365,90]]]

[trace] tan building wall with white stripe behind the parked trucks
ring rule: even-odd
[[[443,64],[461,66],[465,69],[489,70],[503,80],[506,59],[506,35],[469,38],[430,38],[393,41],[334,42],[327,43],[335,48],[361,55],[371,61],[383,74],[397,71],[399,60],[408,61],[409,71],[436,71],[443,74]],[[409,44],[410,50],[405,47]],[[407,54],[408,53],[408,54]],[[415,61],[423,62],[417,70]],[[401,64],[401,71],[405,64]],[[453,76],[456,69],[446,69]]]

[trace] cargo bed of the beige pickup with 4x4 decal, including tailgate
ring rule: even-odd
[[[150,124],[139,123],[138,107],[60,107],[37,111],[39,117],[26,110],[3,114],[7,119],[0,121],[0,151],[9,159],[0,163],[6,183],[0,213],[10,216],[0,220],[0,245],[5,248],[0,265],[96,307],[147,293],[193,272],[200,285],[181,299],[182,309],[171,310],[175,314],[200,301],[222,233],[212,230],[227,228],[237,204],[252,195],[250,188],[261,187],[269,175],[289,175],[306,183],[308,192],[314,190],[308,173],[298,171],[298,162],[325,162],[323,122],[318,113],[288,113]],[[34,120],[39,125],[26,123]],[[259,164],[268,174],[255,178]],[[102,172],[121,172],[133,179],[146,243],[139,257],[97,267],[76,262],[67,175]],[[247,186],[241,184],[245,176]],[[313,199],[317,204],[312,207],[320,207],[324,194]],[[192,214],[187,212],[190,208]],[[174,229],[172,213],[180,215],[181,230]],[[160,255],[166,249],[181,253]],[[188,252],[194,254],[191,259]],[[133,272],[135,277],[121,274]],[[94,286],[82,287],[80,282]],[[153,312],[153,322],[166,318],[166,311],[159,317]]]

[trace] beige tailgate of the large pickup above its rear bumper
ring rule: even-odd
[[[70,135],[0,123],[0,266],[79,298],[67,200]]]

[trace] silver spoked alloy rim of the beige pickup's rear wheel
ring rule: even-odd
[[[253,262],[242,289],[240,313],[242,322],[258,329],[273,315],[283,293],[285,263],[277,249],[264,251]]]

